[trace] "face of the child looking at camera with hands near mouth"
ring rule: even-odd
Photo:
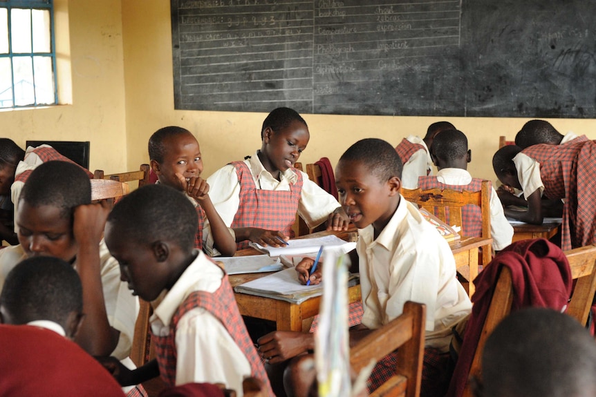
[[[203,172],[203,160],[201,159],[201,148],[198,147],[196,138],[190,134],[181,134],[170,137],[164,142],[165,153],[163,162],[151,160],[153,172],[158,175],[159,182],[182,190],[176,173],[185,178],[198,177]]]

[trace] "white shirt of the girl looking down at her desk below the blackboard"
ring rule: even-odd
[[[250,159],[244,162],[248,166],[258,189],[269,191],[290,191],[290,184],[294,184],[298,177],[291,169],[280,173],[280,180],[276,180],[269,171],[265,169],[255,152]],[[306,173],[299,171],[302,175],[302,193],[298,203],[298,213],[304,219],[308,227],[319,226],[327,220],[330,213],[333,213],[340,205],[335,197],[324,191],[315,182],[308,180]],[[230,227],[240,205],[240,182],[236,175],[236,168],[227,164],[215,171],[207,178],[209,184],[209,196],[217,212],[221,216],[225,226]],[[205,222],[206,224],[207,222]]]

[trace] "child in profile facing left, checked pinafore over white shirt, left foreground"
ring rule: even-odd
[[[227,275],[194,249],[194,206],[167,186],[122,198],[106,224],[106,244],[122,280],[152,302],[157,360],[136,371],[111,363],[122,385],[161,376],[166,385],[224,383],[242,395],[243,378],[269,383],[236,307]],[[271,394],[270,394],[271,395]]]

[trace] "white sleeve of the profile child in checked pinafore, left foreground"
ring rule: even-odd
[[[186,313],[176,328],[176,385],[223,383],[236,392],[250,364],[225,327],[205,309]],[[241,396],[241,394],[239,394]]]

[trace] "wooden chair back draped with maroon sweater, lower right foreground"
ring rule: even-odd
[[[569,261],[572,278],[576,280],[566,313],[578,320],[581,325],[586,325],[596,293],[596,246],[582,246],[566,251],[565,255]],[[484,345],[496,325],[511,312],[513,294],[511,271],[507,267],[502,267],[482,328],[480,340],[478,340],[478,345],[476,346],[469,377],[481,376],[481,358]],[[464,389],[463,396],[474,396],[469,383]]]

